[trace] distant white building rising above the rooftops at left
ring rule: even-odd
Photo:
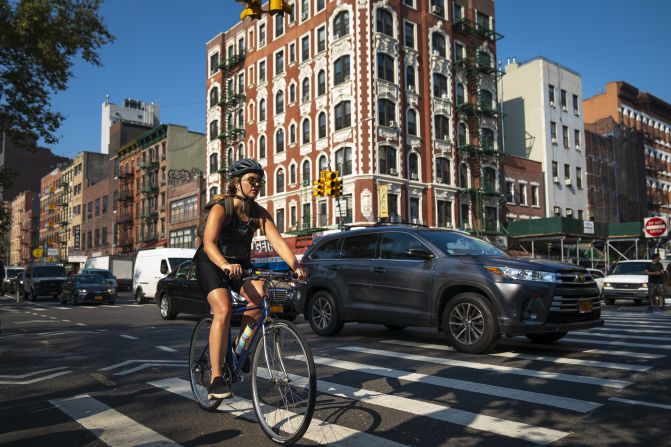
[[[100,152],[109,153],[110,127],[119,120],[129,123],[155,127],[161,124],[161,108],[158,104],[146,103],[137,99],[126,98],[123,105],[111,103],[109,96],[102,105],[102,122],[100,125]]]

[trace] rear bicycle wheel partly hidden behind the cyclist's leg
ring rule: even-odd
[[[212,381],[212,365],[210,364],[210,326],[212,318],[201,319],[193,329],[189,346],[189,381],[191,391],[198,405],[207,411],[217,409],[222,399],[208,399],[207,387]]]

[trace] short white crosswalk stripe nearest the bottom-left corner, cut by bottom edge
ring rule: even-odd
[[[109,446],[179,446],[87,394],[49,401]]]

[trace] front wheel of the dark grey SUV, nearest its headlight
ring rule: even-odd
[[[468,354],[487,352],[501,338],[489,302],[472,292],[460,293],[447,303],[443,330],[454,349]]]

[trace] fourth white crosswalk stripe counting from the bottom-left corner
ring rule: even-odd
[[[577,411],[580,413],[587,413],[601,406],[599,403],[585,400],[571,399],[568,397],[554,396],[544,393],[534,393],[532,391],[487,385],[484,383],[467,382],[465,380],[450,379],[446,377],[430,376],[427,374],[413,373],[409,371],[384,368],[381,366],[367,365],[363,363],[355,363],[327,357],[317,356],[314,357],[314,361],[319,365],[332,366],[334,368],[346,369],[349,371],[357,371],[382,377],[391,377],[398,380],[429,384],[442,388],[469,391],[478,394],[487,394],[490,396],[547,405],[550,407],[557,407],[565,410]]]

